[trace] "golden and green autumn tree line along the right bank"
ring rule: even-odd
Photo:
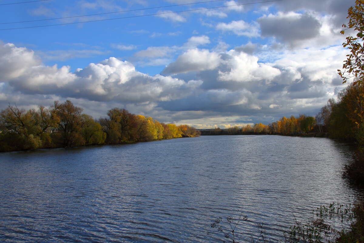
[[[315,116],[282,117],[268,125],[234,126],[202,131],[202,135],[279,134],[287,136],[326,136],[356,141],[364,145],[364,83],[351,83],[329,99]]]

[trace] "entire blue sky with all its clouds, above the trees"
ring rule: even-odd
[[[262,1],[0,0],[0,109],[70,99],[94,118],[122,107],[197,128],[315,115],[345,87],[355,1]]]

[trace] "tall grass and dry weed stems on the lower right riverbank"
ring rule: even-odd
[[[223,243],[242,242],[243,232],[238,232],[239,224],[248,220],[242,213],[237,217],[218,217],[211,223]],[[312,211],[306,222],[296,222],[288,231],[282,230],[281,240],[272,240],[266,235],[263,224],[258,223],[258,236],[251,236],[256,243],[364,243],[364,201],[357,204],[332,203]]]

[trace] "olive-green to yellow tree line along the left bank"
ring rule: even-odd
[[[179,137],[200,133],[188,125],[164,124],[126,109],[113,108],[106,117],[94,119],[67,100],[50,107],[24,110],[16,105],[0,113],[0,151],[84,145],[119,144]]]

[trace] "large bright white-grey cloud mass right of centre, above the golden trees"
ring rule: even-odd
[[[285,51],[272,63],[259,63],[257,56],[230,50],[217,55],[215,65],[196,68],[199,64],[192,64],[195,56],[201,57],[198,63],[208,63],[209,55],[217,54],[205,50],[208,55],[202,58],[202,51],[185,52],[164,70],[179,79],[200,79],[202,86],[190,96],[159,102],[158,107],[203,111],[205,116],[246,114],[256,117],[255,121],[263,116],[279,119],[299,113],[314,115],[343,87],[336,82],[336,69],[342,66],[347,50],[340,46]]]

